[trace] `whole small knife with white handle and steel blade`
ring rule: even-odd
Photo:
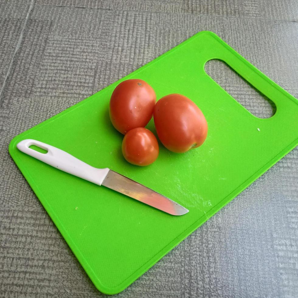
[[[40,153],[29,148],[32,145],[46,150],[47,153]],[[54,168],[78,176],[95,184],[104,185],[166,213],[172,215],[183,215],[189,211],[171,199],[162,196],[158,192],[120,175],[109,168],[94,168],[56,147],[31,139],[23,140],[16,146],[20,151],[39,159]]]

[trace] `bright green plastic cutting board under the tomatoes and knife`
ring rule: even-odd
[[[221,59],[271,99],[276,113],[253,116],[204,71]],[[206,116],[203,146],[175,154],[160,145],[147,167],[127,163],[109,99],[125,79],[147,81],[157,98],[181,93]],[[151,121],[149,129],[155,132]],[[111,168],[189,209],[172,216],[61,172],[16,148],[23,139]],[[217,35],[199,32],[125,78],[16,136],[9,152],[81,265],[103,293],[119,293],[298,144],[298,101]]]

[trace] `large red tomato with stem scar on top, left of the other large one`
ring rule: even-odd
[[[121,82],[110,100],[110,119],[120,133],[145,127],[152,118],[156,95],[153,88],[139,79]]]

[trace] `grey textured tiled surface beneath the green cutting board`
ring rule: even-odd
[[[295,0],[0,0],[0,296],[102,296],[9,157],[12,137],[200,30],[297,97],[297,16]],[[222,65],[206,70],[270,116]],[[296,148],[118,296],[297,297],[297,177]]]

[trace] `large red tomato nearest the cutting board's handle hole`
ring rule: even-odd
[[[199,147],[207,137],[207,121],[201,110],[181,94],[166,95],[156,103],[154,124],[161,143],[183,153]]]

